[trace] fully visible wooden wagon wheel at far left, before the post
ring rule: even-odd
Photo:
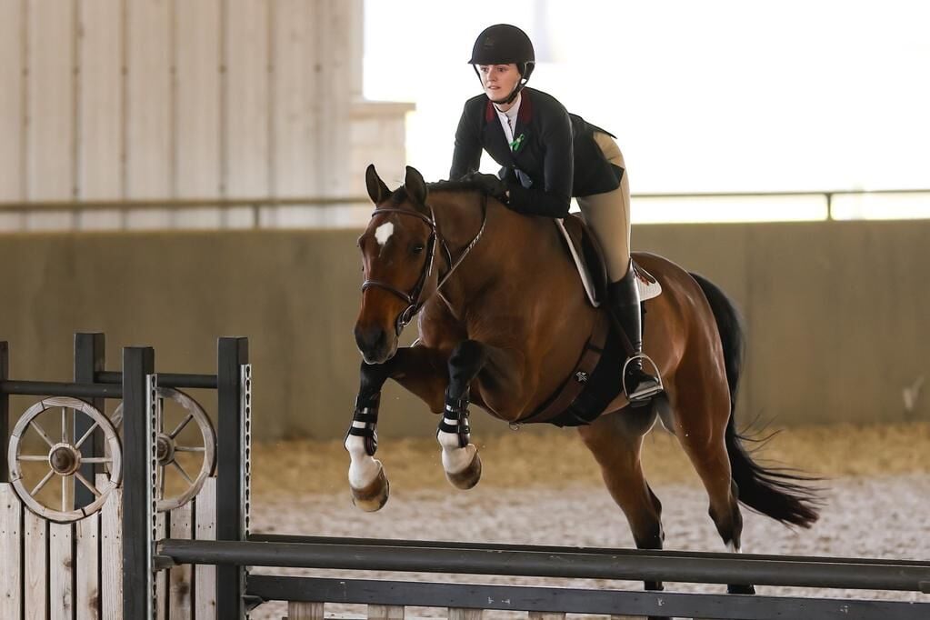
[[[43,412],[50,409],[61,407],[61,437],[60,441],[53,440],[46,433],[46,430],[39,425],[36,418]],[[83,437],[77,441],[72,441],[68,437],[68,410],[72,409],[75,413],[81,412],[88,416],[93,424],[87,429]],[[33,429],[35,434],[42,438],[48,445],[46,455],[22,454],[23,436]],[[94,429],[100,429],[103,432],[104,441],[107,446],[107,456],[83,456],[81,455],[81,446],[91,437]],[[55,434],[55,433],[53,433]],[[23,504],[29,507],[35,514],[45,517],[49,521],[58,521],[67,523],[84,519],[87,515],[93,514],[103,506],[107,496],[115,489],[123,475],[122,468],[123,452],[120,447],[119,437],[116,429],[107,416],[104,416],[90,404],[74,398],[59,397],[46,398],[43,401],[36,402],[32,407],[26,410],[26,413],[20,417],[16,427],[10,434],[9,451],[7,460],[9,463],[10,479],[16,495],[20,496]],[[46,463],[48,473],[32,489],[27,488],[23,482],[22,463]],[[81,473],[81,465],[85,463],[97,463],[107,466],[106,481],[101,481],[101,486],[97,481],[89,481]],[[46,506],[39,501],[37,495],[55,476],[61,479],[61,509]],[[73,498],[68,493],[69,483],[72,479],[83,484],[90,493],[94,495],[94,501],[84,508],[74,508]],[[69,507],[69,504],[71,506]]]

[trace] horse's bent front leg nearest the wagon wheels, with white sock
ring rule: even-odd
[[[405,347],[385,363],[362,363],[352,426],[346,433],[352,504],[367,512],[382,508],[391,485],[384,466],[375,458],[378,450],[378,413],[381,388],[389,378],[397,380],[423,399],[434,412],[442,409],[447,381],[445,357],[426,347]]]

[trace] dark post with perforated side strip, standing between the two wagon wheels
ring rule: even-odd
[[[123,617],[153,620],[153,420],[151,347],[123,350]],[[154,401],[154,404],[153,404]]]

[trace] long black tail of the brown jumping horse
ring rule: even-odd
[[[764,515],[783,523],[810,527],[817,521],[819,499],[817,490],[799,482],[816,478],[785,468],[765,468],[752,460],[744,441],[758,441],[737,432],[734,413],[737,388],[746,350],[746,334],[733,301],[707,278],[692,273],[713,310],[724,349],[726,383],[730,389],[730,418],[726,423],[726,452],[730,457],[733,480],[737,483],[739,501]]]

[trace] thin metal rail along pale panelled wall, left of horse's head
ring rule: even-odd
[[[296,196],[272,198],[268,196],[255,198],[193,198],[164,200],[36,200],[0,202],[0,211],[128,211],[132,209],[196,209],[219,208],[230,209],[250,206],[303,206],[326,204],[371,204],[367,196]]]

